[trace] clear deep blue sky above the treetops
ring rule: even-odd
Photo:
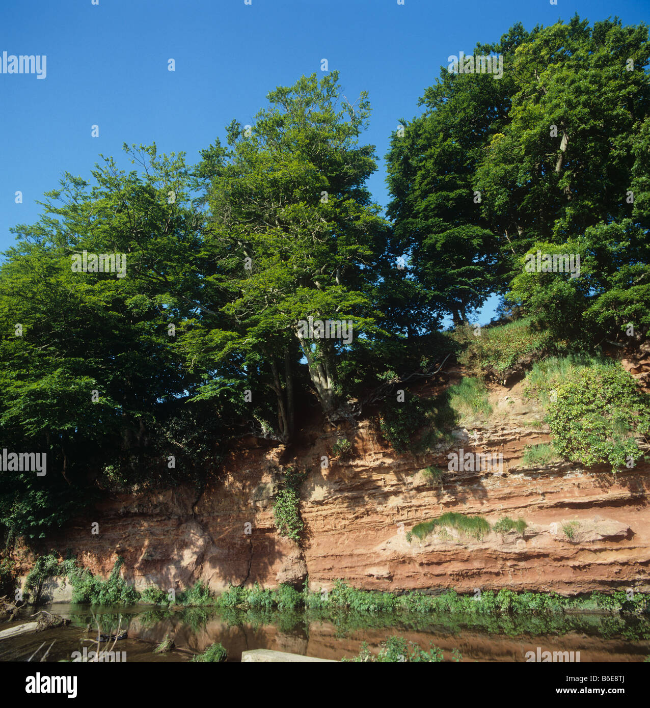
[[[9,227],[38,217],[35,200],[62,172],[87,178],[100,153],[129,167],[124,142],[156,142],[193,162],[233,118],[253,122],[275,86],[320,74],[323,58],[348,98],[370,93],[365,142],[380,161],[369,187],[385,206],[389,135],[399,118],[420,112],[418,98],[449,55],[497,40],[517,21],[530,29],[576,12],[591,23],[650,18],[647,0],[98,1],[4,0],[0,8],[0,55],[47,55],[45,79],[0,74],[0,250],[13,243]]]

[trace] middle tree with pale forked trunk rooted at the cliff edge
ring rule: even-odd
[[[351,321],[354,336],[375,327],[370,287],[385,224],[365,181],[374,147],[358,137],[370,114],[365,93],[350,103],[332,72],[303,76],[268,94],[251,126],[232,122],[199,167],[209,178],[210,248],[239,260],[224,312],[229,331],[206,322],[221,360],[235,351],[268,370],[283,438],[294,425],[293,377],[302,357],[326,416],[346,415],[337,360],[346,344],[306,336],[301,322]],[[205,343],[197,343],[203,348]]]

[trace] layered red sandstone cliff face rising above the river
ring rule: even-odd
[[[492,396],[490,425],[472,421],[454,431],[454,449],[497,452],[503,468],[445,472],[429,482],[429,464],[447,469],[448,450],[421,457],[396,455],[366,423],[354,434],[352,459],[331,457],[336,430],[311,436],[289,452],[242,442],[218,484],[194,489],[117,495],[76,520],[47,549],[72,549],[93,573],[108,576],[115,557],[142,589],[180,590],[203,580],[213,590],[229,584],[300,585],[314,589],[342,578],[359,588],[426,590],[554,590],[564,594],[634,588],[650,591],[650,466],[618,474],[566,463],[525,467],[526,445],[549,438],[539,411]],[[289,464],[310,468],[302,486],[301,547],[273,524],[273,494]],[[407,540],[417,523],[447,511],[480,514],[494,524],[523,518],[523,533],[473,538],[445,528],[422,541]],[[98,520],[99,535],[91,535]],[[569,529],[566,532],[566,529]],[[30,558],[23,558],[27,571]]]

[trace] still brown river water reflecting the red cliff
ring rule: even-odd
[[[650,655],[650,622],[638,619],[580,613],[539,619],[477,619],[432,617],[431,615],[339,615],[313,617],[308,612],[224,611],[215,608],[185,610],[152,610],[151,606],[89,607],[57,604],[41,607],[71,619],[67,627],[30,632],[0,640],[0,661],[27,661],[37,652],[38,661],[51,646],[46,661],[71,661],[74,652],[83,647],[92,651],[87,640],[101,631],[109,634],[127,629],[126,639],[115,643],[120,661],[190,661],[214,642],[228,651],[228,661],[241,661],[248,649],[275,649],[341,660],[355,656],[367,642],[377,652],[388,636],[397,635],[428,650],[430,644],[443,649],[445,661],[457,649],[462,661],[525,662],[527,652],[569,651],[576,661],[628,662],[644,661]],[[20,619],[2,623],[0,629],[28,621],[33,608],[25,608]],[[541,624],[540,624],[541,622]],[[545,622],[545,624],[544,624]],[[93,627],[89,632],[88,625]],[[176,649],[169,653],[153,653],[153,649],[169,634]],[[52,644],[54,642],[54,644]],[[43,646],[41,646],[43,645]],[[104,646],[102,647],[104,648]],[[530,656],[530,655],[529,655]]]

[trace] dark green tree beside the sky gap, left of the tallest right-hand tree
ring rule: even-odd
[[[498,45],[477,52],[504,55],[504,64],[528,35],[515,25]],[[513,78],[455,74],[445,67],[419,105],[423,115],[395,132],[387,154],[395,239],[409,253],[411,273],[423,287],[420,303],[455,324],[467,321],[498,290],[498,237],[481,214],[475,186],[487,139],[508,120]]]

